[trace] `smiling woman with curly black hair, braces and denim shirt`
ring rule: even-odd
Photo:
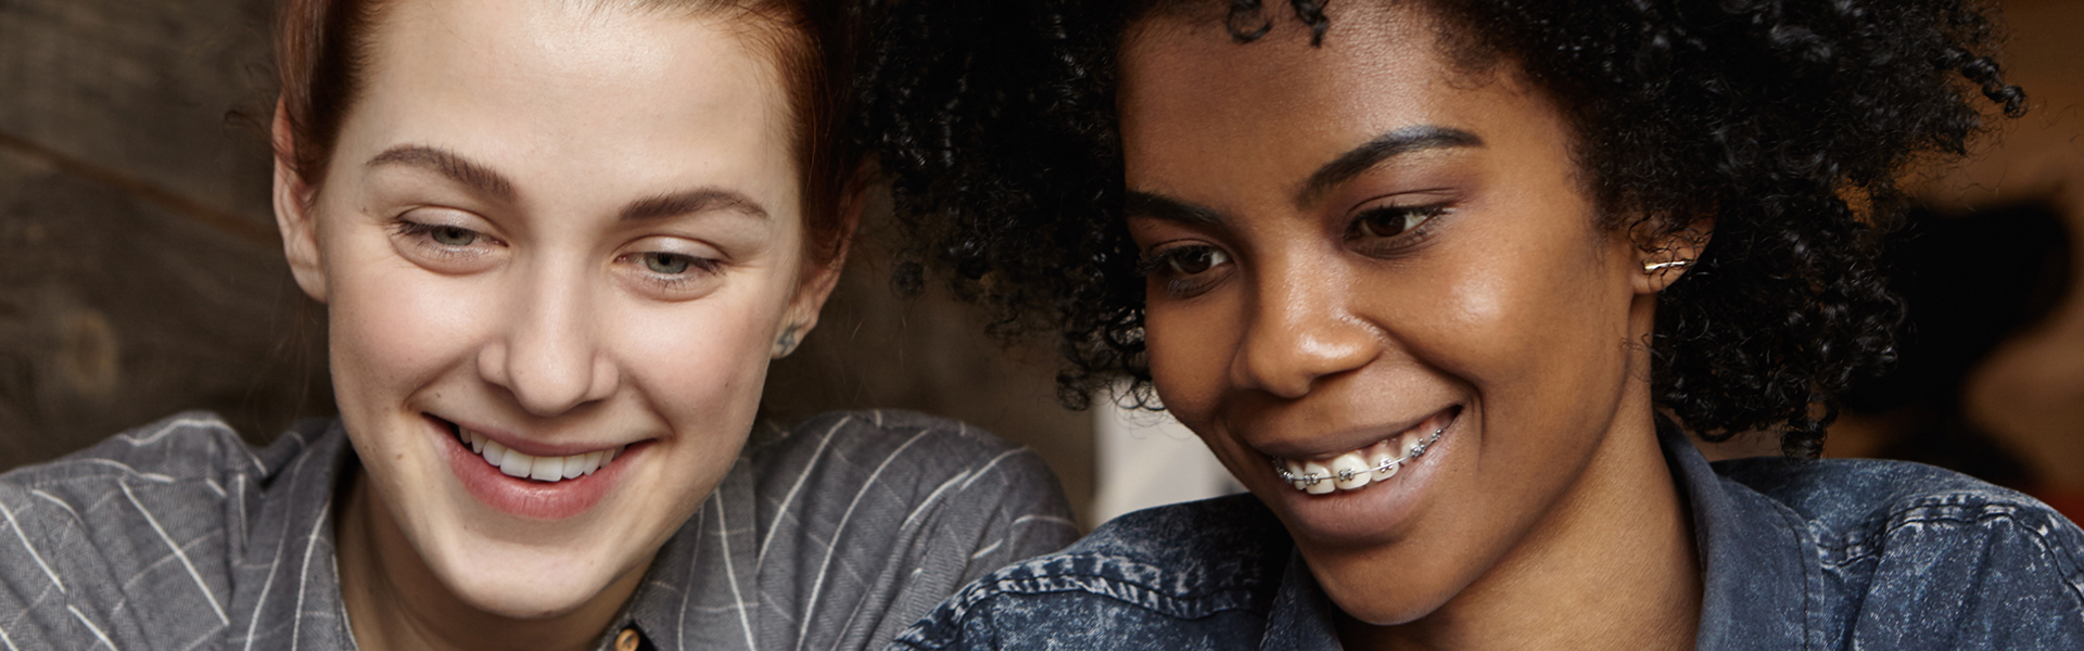
[[[900,647],[2084,649],[2076,524],[1811,459],[1894,357],[1896,179],[2026,106],[1974,2],[886,10],[863,115],[913,271],[1250,490]],[[1740,432],[1786,459],[1692,444]]]

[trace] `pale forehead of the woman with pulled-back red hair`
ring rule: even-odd
[[[523,184],[788,175],[779,54],[754,29],[731,13],[613,2],[408,0],[369,38],[346,131],[375,148],[450,148]]]

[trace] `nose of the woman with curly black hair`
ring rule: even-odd
[[[1342,282],[1302,269],[1317,265],[1286,267],[1255,282],[1232,382],[1300,399],[1319,378],[1365,367],[1382,342],[1375,328],[1350,313]]]

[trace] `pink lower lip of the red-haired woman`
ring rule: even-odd
[[[463,482],[463,490],[469,490],[471,497],[477,497],[488,507],[529,520],[565,520],[586,513],[609,495],[623,467],[629,467],[629,461],[636,461],[648,449],[642,442],[631,444],[621,455],[615,455],[615,463],[590,476],[563,482],[536,482],[506,476],[492,463],[486,463],[486,457],[463,447],[463,440],[456,440],[452,430],[440,424],[436,428],[442,440],[448,442],[442,447],[442,455],[448,459],[448,469]]]

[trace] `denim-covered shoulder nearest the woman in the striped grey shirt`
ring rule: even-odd
[[[1180,634],[1257,630],[1290,549],[1282,524],[1250,495],[1144,509],[1065,551],[984,576],[898,641],[1025,649],[1086,638],[1140,649],[1132,641],[1177,647]]]

